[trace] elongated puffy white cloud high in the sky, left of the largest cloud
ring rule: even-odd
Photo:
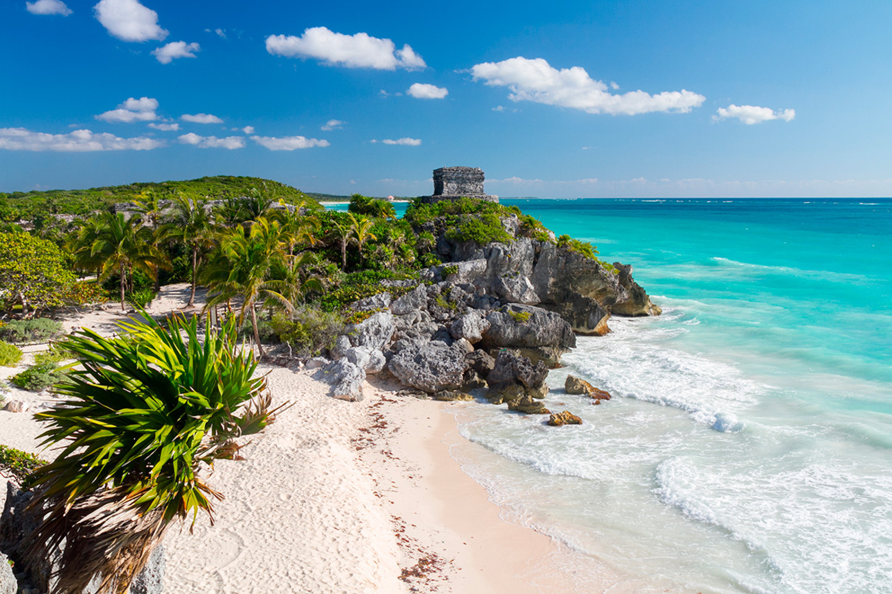
[[[397,50],[390,39],[367,33],[343,35],[325,27],[308,28],[301,37],[271,35],[267,37],[267,52],[287,58],[316,58],[347,68],[414,70],[427,66],[409,45]]]

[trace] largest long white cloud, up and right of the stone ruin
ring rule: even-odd
[[[507,86],[511,101],[557,105],[587,113],[627,116],[652,111],[687,113],[706,101],[703,95],[684,89],[656,95],[644,91],[611,94],[603,81],[592,79],[582,67],[558,70],[541,58],[528,60],[518,56],[500,62],[483,62],[476,64],[471,74],[486,85]]]

